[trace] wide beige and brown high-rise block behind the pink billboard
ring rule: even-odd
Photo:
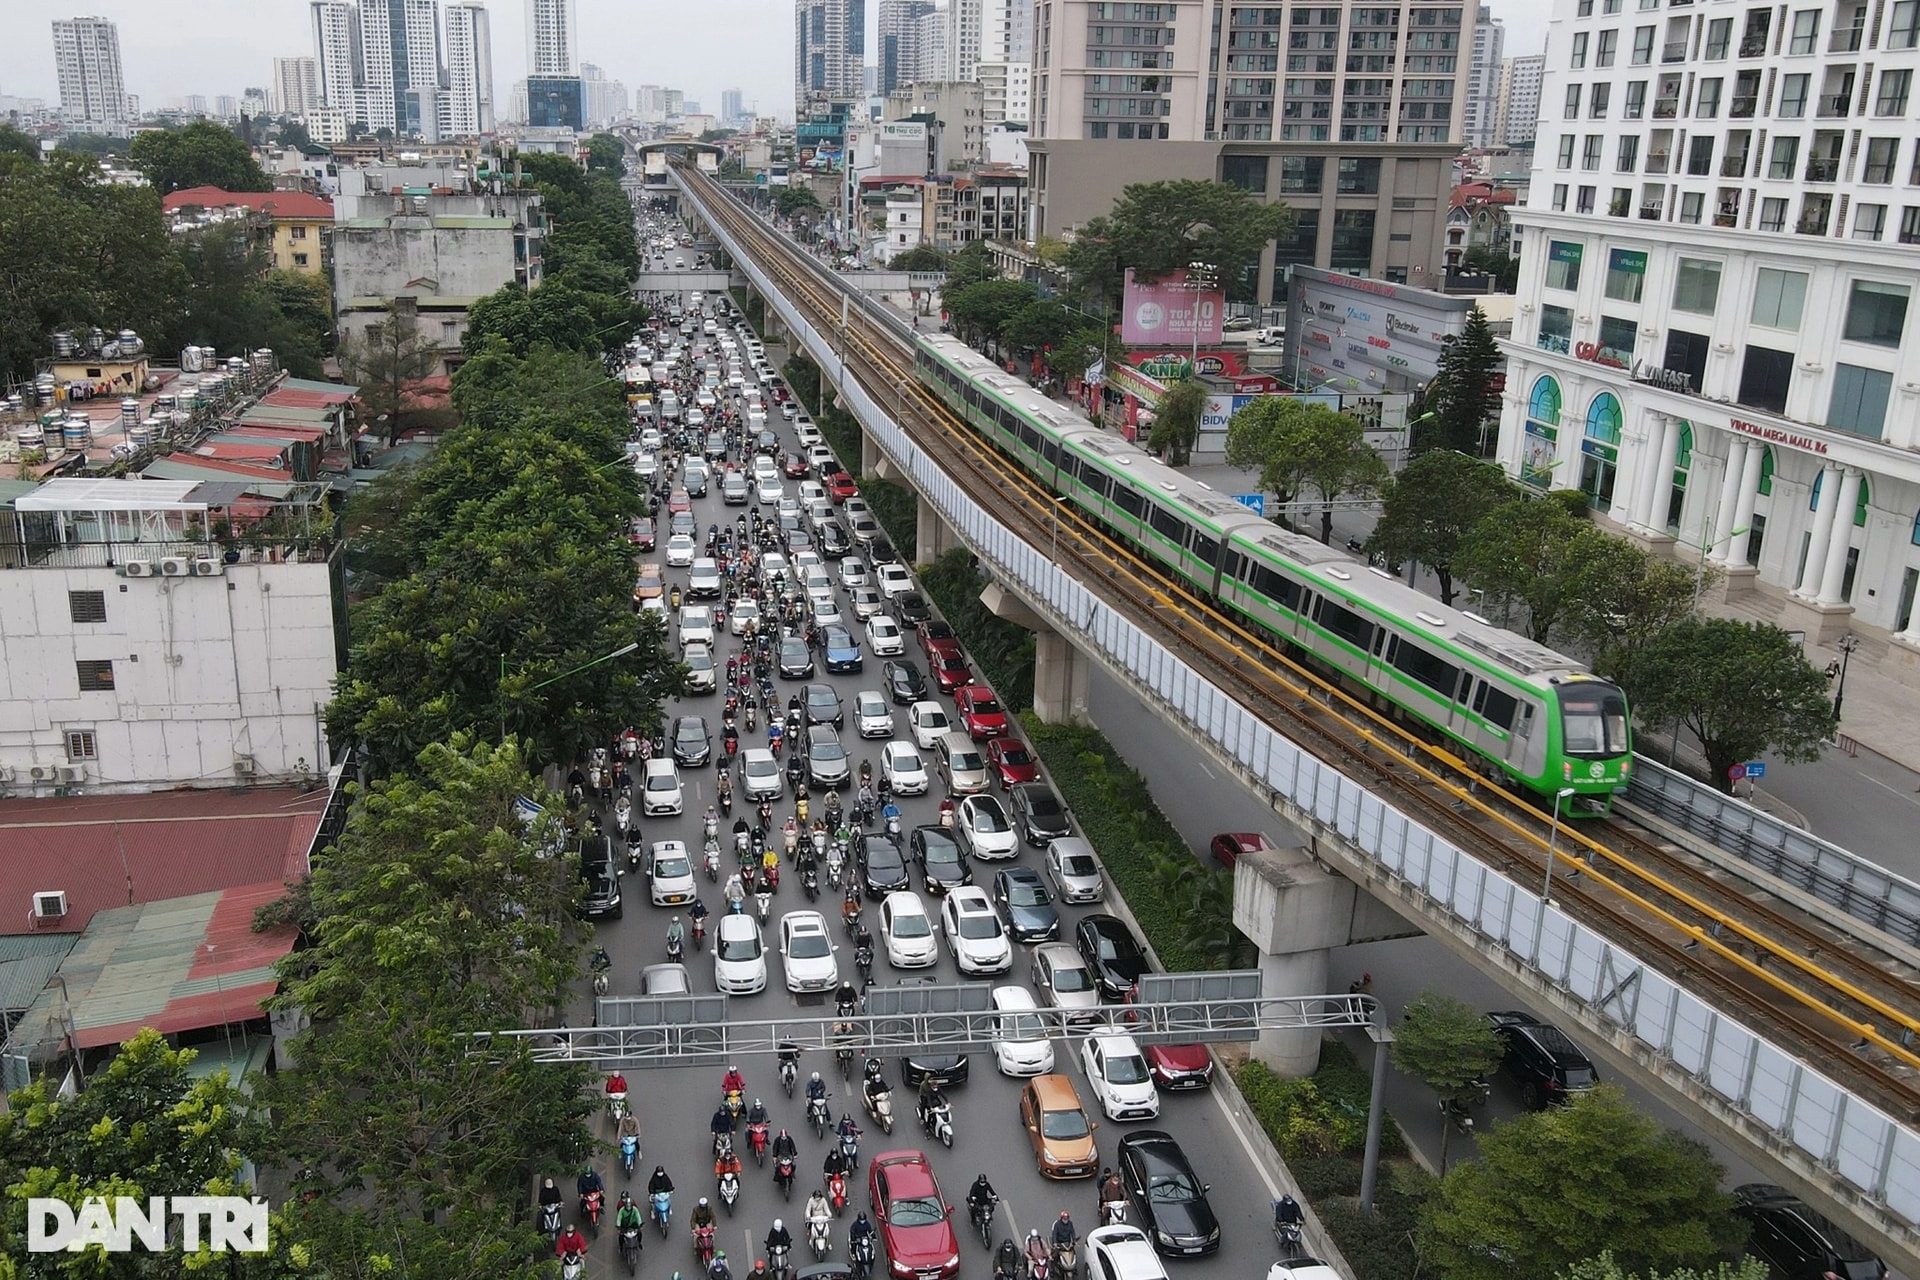
[[[1035,2],[1037,232],[1217,178],[1296,215],[1236,297],[1283,301],[1294,263],[1438,288],[1478,4]]]

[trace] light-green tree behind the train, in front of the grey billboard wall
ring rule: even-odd
[[[1321,541],[1332,539],[1336,499],[1367,497],[1386,484],[1386,462],[1359,422],[1296,395],[1261,395],[1233,415],[1227,466],[1258,470],[1260,487],[1283,509],[1313,491],[1321,503]]]

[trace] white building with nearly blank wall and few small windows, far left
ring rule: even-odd
[[[284,539],[227,562],[196,487],[50,480],[0,510],[0,781],[15,793],[326,770],[330,557]]]

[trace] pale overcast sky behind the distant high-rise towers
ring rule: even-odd
[[[1471,2],[1471,0],[1469,0]],[[58,4],[58,8],[54,8]],[[685,90],[718,113],[720,90],[751,107],[791,107],[793,6],[789,0],[578,0],[580,48],[609,79]],[[876,0],[868,0],[868,48]],[[1549,0],[1492,0],[1507,27],[1507,56],[1546,48]],[[526,75],[526,0],[490,0],[493,92]],[[269,86],[273,59],[313,52],[307,0],[0,0],[0,94],[60,100],[54,15],[92,13],[119,23],[127,92],[142,107],[186,94]]]

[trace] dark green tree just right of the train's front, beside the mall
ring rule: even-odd
[[[1626,658],[1620,683],[1640,723],[1678,722],[1699,739],[1720,791],[1732,791],[1732,766],[1768,752],[1793,764],[1818,760],[1839,727],[1826,676],[1799,641],[1766,622],[1678,622]]]

